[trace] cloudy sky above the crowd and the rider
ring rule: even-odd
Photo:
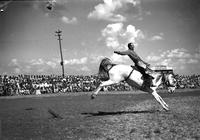
[[[62,30],[66,74],[96,74],[99,62],[131,64],[114,50],[134,42],[152,66],[200,71],[199,0],[54,0],[0,2],[0,74],[61,74],[55,31]]]

